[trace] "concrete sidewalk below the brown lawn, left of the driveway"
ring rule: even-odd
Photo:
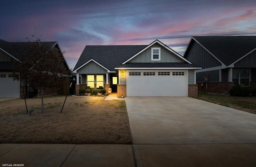
[[[132,145],[112,144],[0,144],[0,164],[24,167],[135,166]]]

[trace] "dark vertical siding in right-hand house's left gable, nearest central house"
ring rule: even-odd
[[[215,59],[208,51],[201,45],[193,41],[185,53],[184,57],[192,63],[199,65],[202,69],[221,66],[222,64]]]

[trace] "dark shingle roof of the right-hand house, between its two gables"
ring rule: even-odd
[[[193,36],[225,65],[256,48],[256,36]]]

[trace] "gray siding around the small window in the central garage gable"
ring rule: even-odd
[[[151,61],[151,47],[134,57],[132,60],[130,60],[128,63],[150,63],[150,62],[156,62],[156,63],[166,63],[166,62],[172,62],[172,63],[184,63],[185,61],[180,59],[177,55],[174,53],[168,51],[166,48],[162,47],[160,44],[156,43],[152,45],[152,47],[160,47],[160,61]]]

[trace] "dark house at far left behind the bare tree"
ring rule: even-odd
[[[47,48],[60,48],[58,42],[42,43],[44,43],[44,46]],[[18,55],[20,47],[24,47],[26,45],[27,42],[7,42],[0,39],[0,97],[24,97],[21,88],[21,81],[13,80],[12,64],[13,61],[20,61],[20,56]],[[62,53],[60,54],[62,55]],[[65,60],[64,56],[63,59]],[[64,67],[66,67],[67,70],[69,69],[66,60],[64,62]],[[58,86],[47,88],[44,90],[44,94],[66,94],[70,84],[69,80],[70,79],[68,77],[66,81]],[[27,93],[31,89],[32,88],[28,87]],[[40,95],[40,92],[38,95]]]

